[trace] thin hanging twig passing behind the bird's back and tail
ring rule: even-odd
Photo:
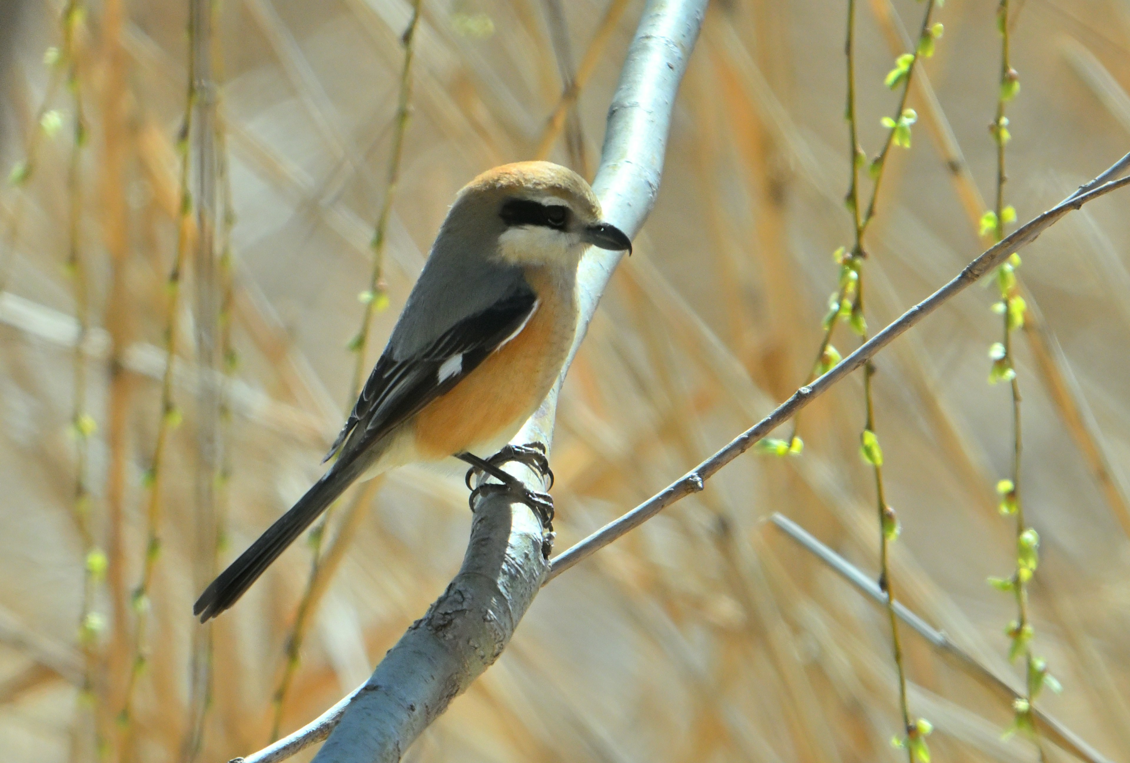
[[[388,181],[384,187],[384,199],[381,201],[381,212],[376,220],[376,229],[373,234],[373,242],[371,244],[373,249],[373,271],[370,275],[368,289],[360,293],[360,300],[365,305],[360,330],[349,343],[349,350],[356,353],[357,358],[354,363],[353,385],[350,386],[349,398],[346,402],[347,410],[360,394],[360,386],[364,380],[365,369],[367,368],[366,356],[368,350],[370,328],[373,324],[373,314],[377,310],[384,309],[389,304],[383,280],[384,251],[388,245],[386,234],[389,219],[392,214],[392,203],[395,200],[397,185],[400,181],[400,164],[403,157],[405,134],[408,132],[408,121],[411,116],[412,43],[416,38],[416,28],[419,24],[419,17],[420,0],[412,0],[412,15],[408,21],[408,28],[400,38],[403,44],[405,55],[400,68],[400,88],[397,97],[397,114],[393,117],[392,154],[389,157]],[[376,485],[371,482],[360,491],[358,497],[354,499],[354,503],[349,509],[350,517],[357,515],[364,507],[367,507],[372,502],[375,488]],[[287,635],[286,661],[282,666],[282,675],[279,678],[275,694],[271,698],[271,704],[273,705],[273,717],[271,719],[272,742],[279,737],[279,727],[282,722],[282,711],[286,707],[286,700],[290,691],[290,684],[294,681],[295,670],[298,669],[302,658],[302,643],[306,635],[306,629],[310,626],[311,617],[318,609],[320,594],[315,593],[315,589],[324,589],[329,582],[330,576],[332,575],[332,570],[337,569],[337,563],[334,563],[328,570],[330,575],[327,575],[327,572],[323,572],[322,570],[322,541],[325,537],[325,528],[330,518],[333,516],[336,508],[337,502],[330,506],[325,516],[322,517],[318,526],[311,530],[311,553],[313,555],[313,561],[311,562],[310,576],[306,579],[306,590],[303,591],[302,599],[298,602],[294,625],[290,629],[290,633]],[[339,534],[337,542],[340,543],[348,541],[351,535],[351,533]],[[344,553],[344,547],[340,553]]]

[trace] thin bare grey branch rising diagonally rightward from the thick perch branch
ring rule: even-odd
[[[692,493],[702,491],[705,486],[705,481],[714,476],[714,474],[716,474],[723,466],[751,448],[774,429],[789,421],[789,419],[796,415],[798,411],[803,409],[810,402],[841,382],[849,374],[870,360],[875,353],[912,328],[920,321],[922,321],[922,318],[933,313],[936,309],[982,278],[994,266],[1002,263],[1010,254],[1034,242],[1040,234],[1058,222],[1064,214],[1081,208],[1087,202],[1094,201],[1095,199],[1104,196],[1107,193],[1122,188],[1127,185],[1130,185],[1130,177],[1123,177],[1118,181],[1107,181],[1102,185],[1092,187],[1090,191],[1086,193],[1075,194],[1069,199],[1064,199],[1052,209],[1017,228],[1009,236],[1005,237],[1003,240],[982,252],[948,283],[942,286],[918,305],[906,310],[898,317],[898,319],[894,321],[878,334],[861,344],[854,352],[844,358],[840,363],[829,369],[815,382],[797,389],[797,392],[794,392],[789,400],[774,409],[772,413],[757,422],[757,424],[736,437],[721,450],[701,463],[679,480],[669,484],[661,492],[652,495],[650,499],[627,514],[598,529],[596,533],[568,549],[563,554],[554,558],[554,564],[549,573],[549,579],[551,580],[556,578],[558,575],[570,569],[581,560],[590,556],[612,541],[638,527],[671,503],[675,503]]]

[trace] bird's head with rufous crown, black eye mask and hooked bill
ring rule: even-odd
[[[455,208],[497,231],[497,255],[515,265],[573,266],[590,245],[632,252],[632,240],[601,219],[584,178],[550,161],[488,169],[460,191]]]

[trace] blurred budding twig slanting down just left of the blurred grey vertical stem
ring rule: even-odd
[[[195,28],[195,17],[189,15],[189,49],[193,50],[194,37],[198,33]],[[160,518],[162,518],[162,494],[160,488],[165,476],[165,456],[168,448],[168,439],[173,429],[181,423],[182,414],[173,396],[173,370],[176,365],[177,336],[181,332],[180,317],[181,305],[181,279],[188,264],[189,249],[193,246],[195,230],[192,219],[193,199],[190,191],[190,150],[189,140],[193,130],[193,113],[197,106],[197,80],[194,71],[194,56],[190,56],[188,87],[185,95],[184,117],[181,124],[181,132],[177,138],[177,151],[180,154],[180,210],[176,225],[176,247],[174,253],[173,269],[167,280],[167,306],[165,314],[165,341],[164,351],[166,357],[165,372],[160,384],[160,419],[157,424],[157,440],[153,450],[150,466],[146,472],[146,486],[149,489],[149,498],[146,508],[146,545],[141,565],[141,577],[138,586],[133,589],[130,604],[134,612],[134,623],[132,632],[132,659],[128,667],[124,699],[122,709],[118,716],[120,727],[119,760],[122,763],[131,763],[136,754],[136,740],[138,723],[133,719],[133,700],[138,679],[147,661],[147,621],[149,614],[149,594],[153,584],[154,570],[160,554]]]

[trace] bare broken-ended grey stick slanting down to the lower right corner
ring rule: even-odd
[[[777,529],[791,537],[801,547],[823,561],[840,577],[855,586],[855,588],[866,594],[872,600],[878,602],[884,606],[887,604],[887,596],[883,593],[871,576],[867,575],[832,549],[817,541],[798,524],[788,517],[775,512],[772,517],[770,517],[770,521],[772,521]],[[912,631],[925,639],[925,641],[940,655],[942,655],[942,657],[947,658],[951,665],[976,679],[977,683],[985,686],[998,696],[1005,699],[1007,702],[1012,702],[1024,698],[1024,692],[1012,689],[1008,682],[979,663],[972,655],[954,643],[945,631],[936,630],[899,602],[895,602],[894,609],[898,615],[898,619],[906,623]],[[1110,758],[1090,747],[1090,745],[1076,736],[1071,729],[1063,726],[1063,723],[1052,716],[1034,708],[1033,717],[1040,728],[1040,731],[1044,734],[1050,742],[1053,742],[1072,755],[1079,757],[1080,760],[1088,761],[1088,763],[1112,763]]]

